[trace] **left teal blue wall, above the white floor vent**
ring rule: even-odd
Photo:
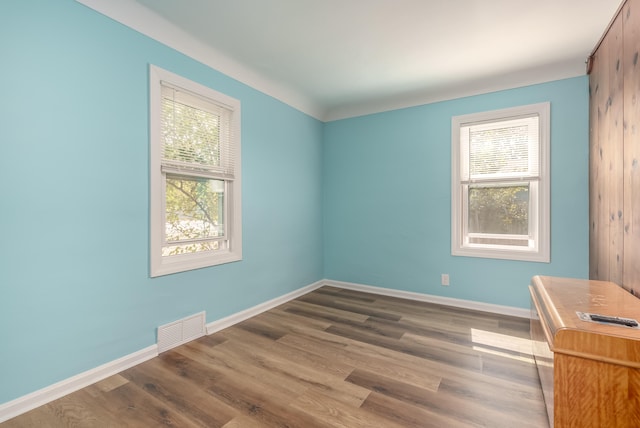
[[[312,284],[323,124],[72,0],[0,5],[0,403]],[[148,65],[242,102],[244,260],[149,278]]]

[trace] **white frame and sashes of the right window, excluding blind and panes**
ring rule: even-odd
[[[454,256],[484,257],[494,259],[522,260],[533,262],[551,261],[550,254],[550,103],[531,104],[520,107],[472,113],[454,116],[451,121],[452,147],[452,184],[451,184],[451,254]],[[463,171],[467,168],[468,158],[461,145],[461,128],[470,125],[490,124],[504,120],[537,116],[538,121],[538,159],[539,176],[530,190],[529,203],[529,245],[489,245],[470,243],[467,231],[467,207],[465,189],[468,183],[463,180]],[[523,183],[533,182],[521,177]],[[513,179],[504,183],[513,183]],[[498,182],[500,183],[500,182]],[[537,188],[537,190],[536,190]]]

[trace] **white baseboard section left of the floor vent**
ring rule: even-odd
[[[80,373],[58,383],[54,383],[53,385],[32,392],[31,394],[0,404],[0,423],[106,379],[116,373],[120,373],[122,370],[150,360],[157,355],[158,347],[156,345],[151,345],[147,348],[141,349],[140,351],[125,355],[117,360],[108,362],[91,370],[87,370],[84,373]]]

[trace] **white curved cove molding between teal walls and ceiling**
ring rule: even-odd
[[[294,90],[285,83],[269,79],[201,42],[135,0],[76,1],[322,122],[515,89],[585,74],[584,59],[570,58],[541,67],[512,70],[500,76],[480,77],[473,81],[438,88],[425,87],[423,90],[411,90],[385,97],[376,97],[373,94],[370,99],[354,103],[322,106],[311,97]]]

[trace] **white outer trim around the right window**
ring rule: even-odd
[[[484,257],[532,262],[551,261],[551,193],[550,193],[550,103],[454,116],[451,120],[451,254],[454,256]],[[540,144],[540,178],[538,181],[538,218],[532,225],[537,233],[537,245],[533,248],[483,246],[464,243],[464,207],[461,185],[460,127],[479,122],[493,122],[518,117],[538,115]],[[533,202],[535,203],[535,201]]]

